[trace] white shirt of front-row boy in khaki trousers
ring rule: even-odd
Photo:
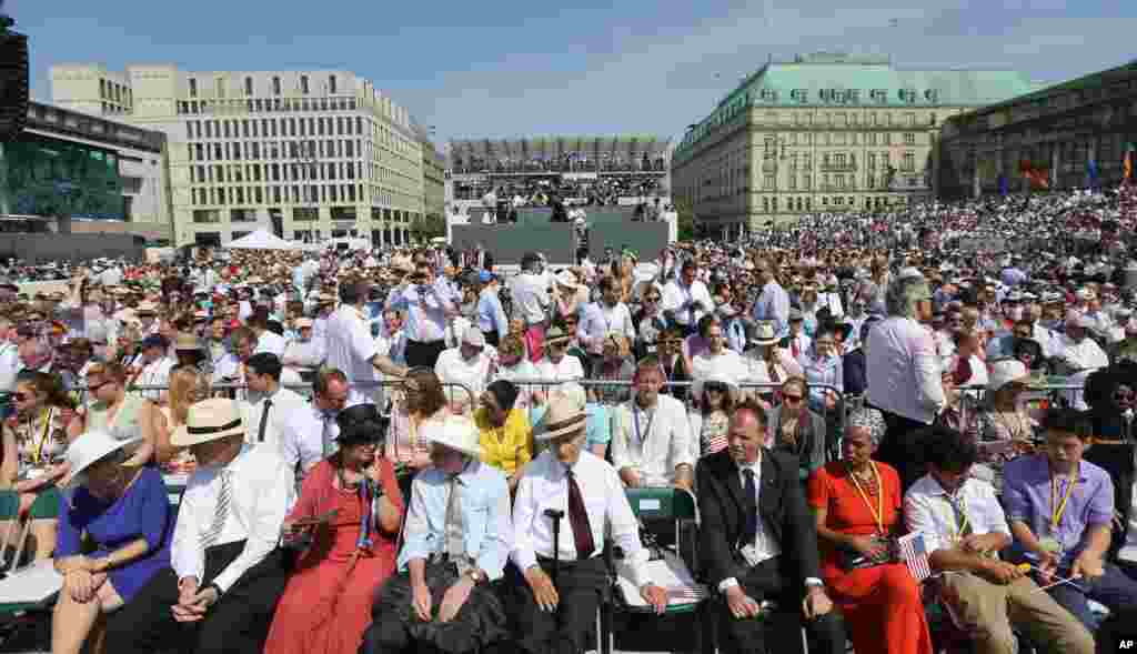
[[[931,474],[926,474],[904,494],[904,521],[908,531],[922,531],[928,554],[951,549],[962,529],[952,507],[953,497]],[[1011,536],[1003,506],[995,496],[995,488],[979,479],[970,478],[955,491],[954,500],[966,515],[971,533],[1004,533]]]

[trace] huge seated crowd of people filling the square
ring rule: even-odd
[[[27,297],[10,262],[0,550],[63,576],[57,654],[575,653],[606,541],[669,605],[624,490],[674,487],[722,651],[765,651],[772,612],[835,654],[1112,651],[1131,201],[824,214],[516,275],[234,250],[60,263],[68,292]]]

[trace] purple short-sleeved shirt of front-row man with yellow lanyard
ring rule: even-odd
[[[1055,508],[1065,497],[1067,486],[1059,483]],[[1007,522],[1022,521],[1035,537],[1055,538],[1062,545],[1063,556],[1059,568],[1069,568],[1082,550],[1082,536],[1088,527],[1109,524],[1113,519],[1113,481],[1103,469],[1082,461],[1078,469],[1078,486],[1067,502],[1057,533],[1051,533],[1051,469],[1045,454],[1020,456],[1003,466],[1003,505]],[[1021,544],[1015,550],[1027,558],[1037,555],[1026,552]]]

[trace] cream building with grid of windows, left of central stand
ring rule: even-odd
[[[177,246],[258,227],[404,243],[424,210],[409,114],[351,72],[78,64],[53,66],[51,84],[57,105],[166,134]]]

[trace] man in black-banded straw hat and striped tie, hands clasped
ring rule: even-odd
[[[240,406],[192,405],[171,436],[198,461],[182,496],[172,568],[111,616],[107,652],[150,653],[179,638],[184,651],[259,654],[288,572],[276,545],[292,504],[292,470],[275,447],[244,442]]]

